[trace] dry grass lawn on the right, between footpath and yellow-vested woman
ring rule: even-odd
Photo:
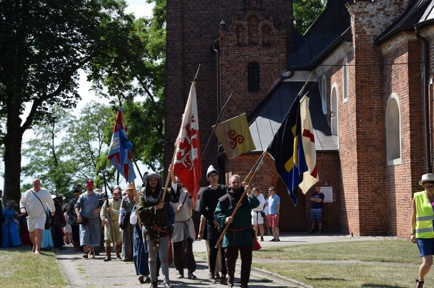
[[[416,244],[403,240],[352,241],[262,248],[254,251],[253,257],[253,267],[275,272],[315,288],[414,287],[419,271],[418,266],[421,263]],[[284,260],[302,261],[301,263],[288,263]],[[371,263],[323,264],[313,263],[313,261]],[[428,274],[425,282],[428,287],[434,286],[432,285],[434,278],[431,274]]]

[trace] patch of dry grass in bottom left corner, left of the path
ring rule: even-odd
[[[0,287],[64,287],[64,278],[52,251],[35,255],[29,247],[0,249]]]

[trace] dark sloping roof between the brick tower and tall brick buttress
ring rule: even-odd
[[[321,61],[342,41],[351,41],[348,1],[329,1],[324,11],[302,38],[296,37],[293,50],[288,47],[288,69],[306,69]]]

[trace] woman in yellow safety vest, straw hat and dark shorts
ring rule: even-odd
[[[434,254],[434,174],[424,174],[419,185],[424,191],[416,192],[413,196],[412,233],[410,240],[417,243],[422,257],[416,288],[422,288],[424,277],[431,269]]]

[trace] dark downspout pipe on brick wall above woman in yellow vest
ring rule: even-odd
[[[423,96],[425,105],[425,146],[426,146],[426,171],[432,173],[431,166],[431,134],[429,125],[429,51],[428,40],[420,35],[419,26],[415,26],[416,38],[423,44]]]

